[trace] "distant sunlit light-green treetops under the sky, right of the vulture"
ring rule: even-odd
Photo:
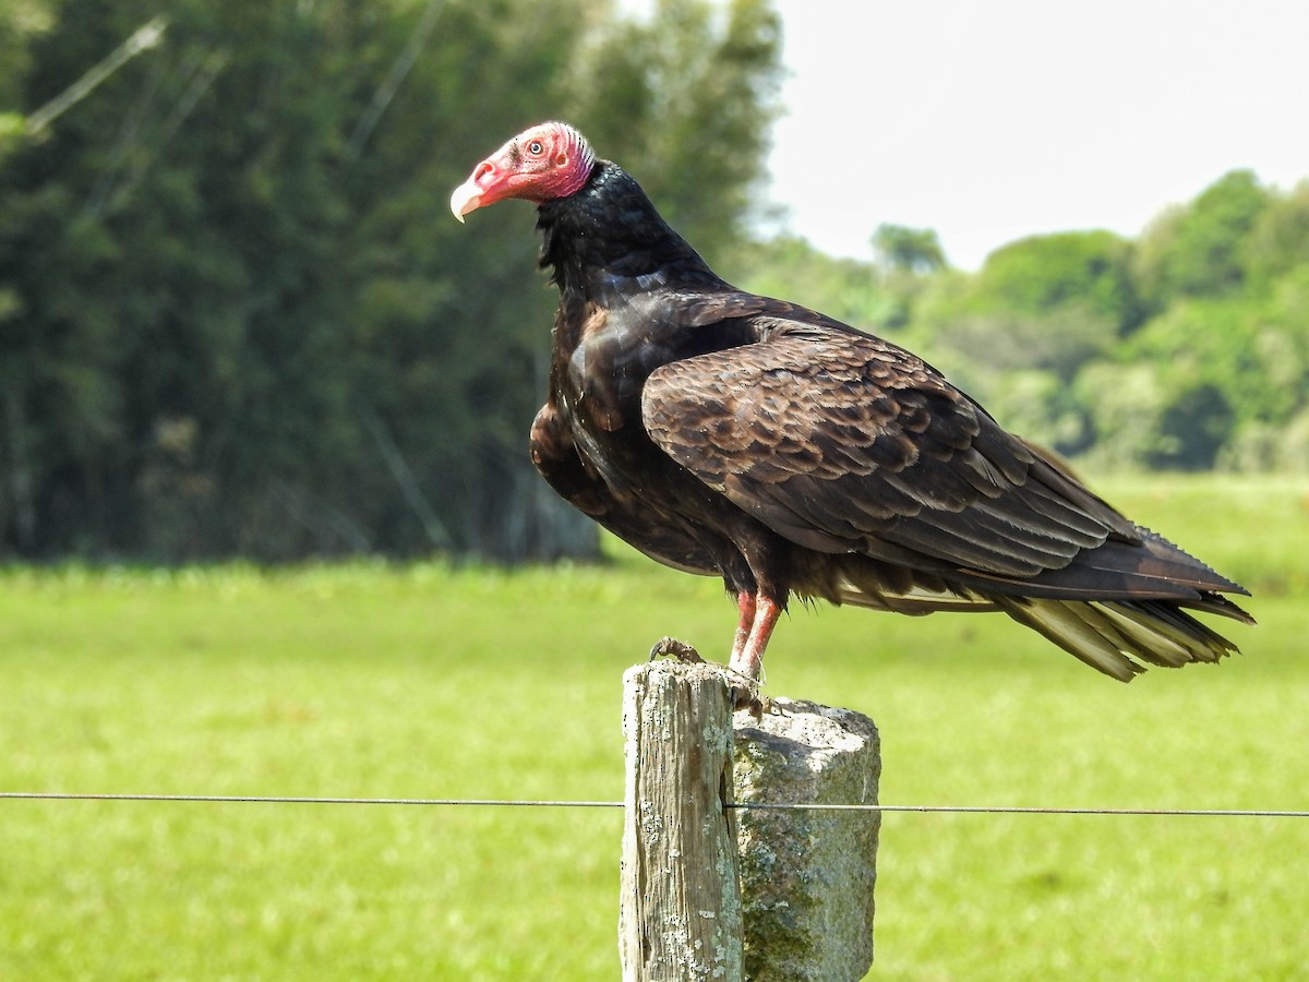
[[[1134,240],[1033,236],[975,274],[929,229],[884,225],[872,245],[857,262],[761,244],[753,279],[880,325],[1097,469],[1309,470],[1309,182],[1234,170]]]

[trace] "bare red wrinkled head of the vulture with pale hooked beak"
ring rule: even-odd
[[[551,202],[586,183],[596,155],[586,137],[567,123],[541,123],[514,136],[474,168],[450,195],[450,211],[463,216],[505,198]]]

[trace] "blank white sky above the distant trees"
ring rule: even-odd
[[[884,221],[977,268],[1008,241],[1134,236],[1233,168],[1309,177],[1305,0],[774,0],[784,228],[869,257]]]

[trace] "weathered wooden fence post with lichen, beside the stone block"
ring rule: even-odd
[[[721,669],[652,661],[623,676],[623,982],[741,982],[732,704]]]

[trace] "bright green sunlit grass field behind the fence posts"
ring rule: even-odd
[[[1309,481],[1110,500],[1255,591],[1123,686],[1000,617],[797,608],[767,691],[882,732],[888,804],[1309,808]],[[622,672],[719,585],[606,568],[0,572],[0,791],[605,799]],[[3,979],[613,979],[617,809],[0,800]],[[889,814],[888,979],[1291,979],[1309,820]]]

